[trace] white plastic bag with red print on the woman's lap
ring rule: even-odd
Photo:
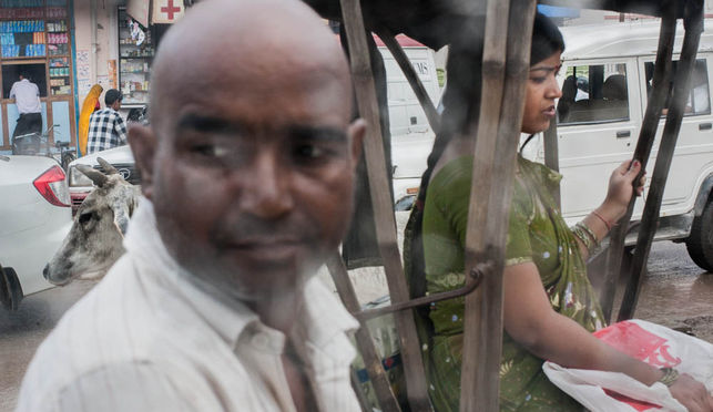
[[[594,332],[620,351],[656,368],[675,368],[713,390],[713,344],[675,330],[628,320]],[[623,373],[562,368],[544,362],[550,381],[594,412],[685,412],[663,383],[651,387]]]

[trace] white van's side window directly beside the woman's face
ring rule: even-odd
[[[611,63],[567,68],[557,112],[559,124],[629,120],[627,65]]]

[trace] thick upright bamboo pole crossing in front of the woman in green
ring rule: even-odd
[[[499,409],[505,244],[536,6],[534,0],[488,1],[466,272],[486,256],[496,268],[466,296],[460,411]]]

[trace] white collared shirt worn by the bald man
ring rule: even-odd
[[[180,268],[151,203],[132,218],[126,254],[40,346],[18,411],[294,411],[285,336]],[[316,278],[295,331],[322,411],[360,411],[349,383],[358,323]]]

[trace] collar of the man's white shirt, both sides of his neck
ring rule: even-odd
[[[257,315],[246,305],[193,276],[175,261],[161,239],[153,204],[146,198],[141,198],[131,218],[124,248],[144,267],[153,268],[152,271],[167,280],[231,348],[235,348],[249,325],[259,322]],[[304,293],[298,333],[306,340],[325,347],[337,334],[358,328],[358,322],[316,276],[307,281]]]

